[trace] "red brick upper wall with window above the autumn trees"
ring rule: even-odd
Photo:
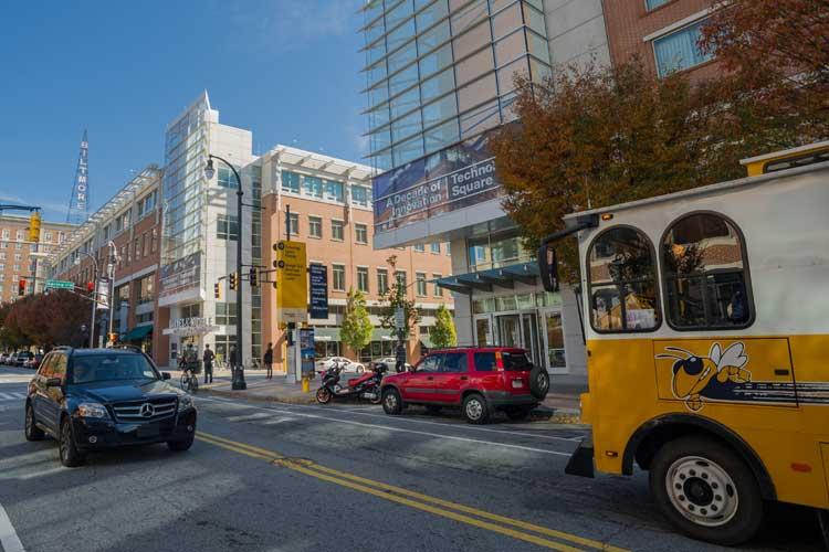
[[[715,75],[715,59],[696,47],[712,0],[604,0],[610,59],[638,55],[657,76],[688,71],[691,81]]]

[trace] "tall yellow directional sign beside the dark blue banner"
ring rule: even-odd
[[[276,252],[276,311],[283,322],[304,322],[308,312],[307,256],[303,242],[282,240]]]

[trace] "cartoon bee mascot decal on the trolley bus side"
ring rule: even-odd
[[[752,372],[744,369],[748,357],[743,343],[732,343],[724,351],[720,343],[711,346],[707,357],[700,357],[679,347],[665,347],[658,359],[675,359],[673,363],[673,394],[685,401],[693,412],[703,407],[703,399],[733,396],[734,388],[752,381]]]

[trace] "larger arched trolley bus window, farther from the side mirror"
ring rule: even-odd
[[[738,230],[725,217],[695,213],[662,242],[668,322],[678,330],[746,327],[753,305]]]

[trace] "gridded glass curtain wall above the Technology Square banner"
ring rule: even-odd
[[[512,120],[515,75],[552,72],[542,0],[374,0],[364,15],[379,172]]]

